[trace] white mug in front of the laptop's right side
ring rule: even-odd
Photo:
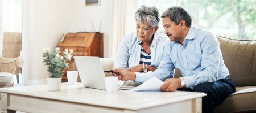
[[[106,80],[106,91],[108,93],[117,92],[118,77],[117,76],[108,76],[108,77],[105,77],[105,80]]]

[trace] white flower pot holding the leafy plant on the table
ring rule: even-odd
[[[49,91],[58,91],[61,86],[61,77],[48,77],[47,78],[48,90]]]

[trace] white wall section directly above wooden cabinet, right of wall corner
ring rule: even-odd
[[[72,0],[71,0],[72,1]],[[108,57],[109,31],[112,21],[112,0],[102,0],[100,5],[85,6],[85,0],[72,1],[70,28],[78,31],[93,32],[94,30],[104,34],[104,57]]]

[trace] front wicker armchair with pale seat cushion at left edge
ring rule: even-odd
[[[13,86],[16,68],[22,66],[23,60],[20,57],[0,57],[0,88]]]

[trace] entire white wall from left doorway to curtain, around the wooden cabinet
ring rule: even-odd
[[[100,5],[85,6],[84,0],[26,0],[28,2],[27,32],[25,38],[25,60],[27,84],[46,84],[49,76],[43,65],[42,49],[57,46],[62,33],[69,30],[92,32],[91,22],[96,31],[102,21],[104,33],[104,57],[108,57],[108,40],[112,15],[112,1],[101,1]]]

